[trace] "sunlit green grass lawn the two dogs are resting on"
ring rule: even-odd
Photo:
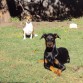
[[[78,24],[77,29],[70,29],[68,20],[33,22],[38,37],[32,40],[23,40],[18,26],[1,26],[0,82],[83,83],[83,17],[72,21]],[[57,47],[69,50],[71,62],[60,77],[38,63],[45,49],[44,39],[40,40],[43,33],[57,33],[61,37],[56,39]]]

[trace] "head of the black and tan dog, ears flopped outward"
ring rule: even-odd
[[[53,47],[55,45],[55,39],[60,38],[56,33],[48,33],[48,34],[43,34],[41,39],[45,39],[46,47]]]

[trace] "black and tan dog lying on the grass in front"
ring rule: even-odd
[[[68,50],[64,47],[56,48],[55,39],[60,38],[56,33],[43,34],[42,38],[45,39],[46,44],[44,67],[60,75],[61,71],[66,69],[64,64],[70,62]]]

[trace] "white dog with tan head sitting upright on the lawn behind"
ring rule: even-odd
[[[24,38],[23,39],[26,39],[27,35],[30,35],[30,39],[32,39],[33,36],[37,36],[36,34],[34,35],[34,28],[33,28],[32,21],[31,21],[32,17],[27,16],[26,19],[27,19],[27,22],[26,22],[25,27],[23,28],[23,31],[24,31]]]

